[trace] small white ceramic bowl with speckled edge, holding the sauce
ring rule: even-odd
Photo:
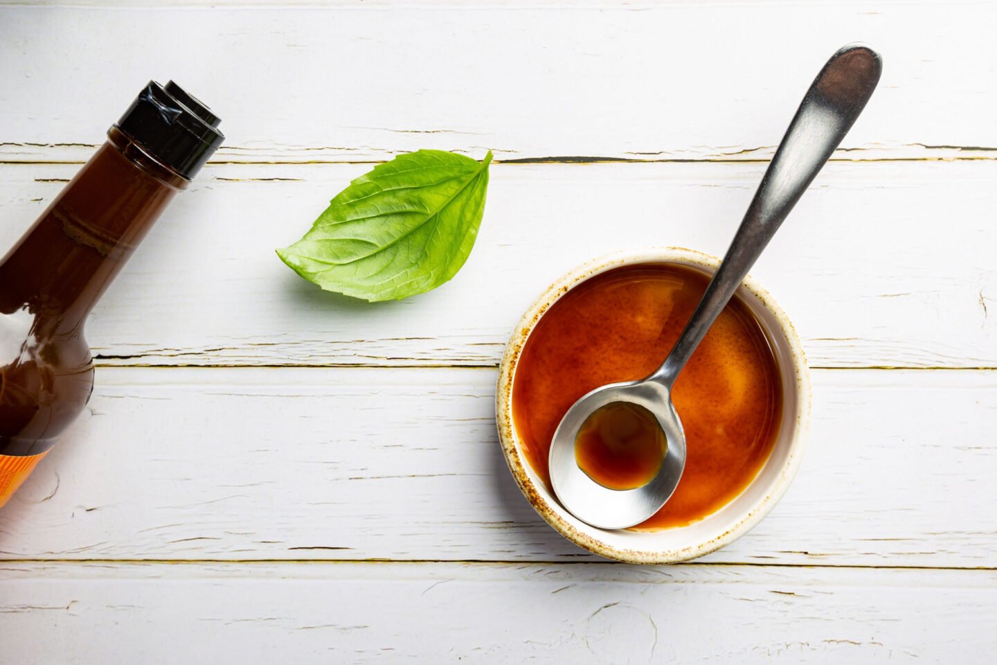
[[[738,295],[762,324],[775,350],[783,380],[779,439],[755,480],[717,512],[687,526],[657,531],[609,530],[590,526],[565,510],[522,454],[512,423],[512,385],[526,338],[544,312],[570,288],[620,265],[674,263],[712,275],[720,260],[690,249],[652,247],[595,259],[550,285],[522,316],[509,338],[498,372],[498,436],[509,471],[536,511],[568,540],[602,556],[629,563],[674,563],[723,547],[747,533],[786,493],[800,466],[810,422],[811,388],[807,358],[793,324],[772,297],[749,276]]]

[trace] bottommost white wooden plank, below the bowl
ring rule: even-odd
[[[986,662],[997,648],[997,574],[980,570],[5,564],[0,589],[11,662]]]

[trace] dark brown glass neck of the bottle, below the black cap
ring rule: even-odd
[[[187,180],[116,128],[0,260],[0,313],[27,309],[79,331],[173,195]]]

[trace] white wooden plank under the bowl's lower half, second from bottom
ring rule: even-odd
[[[0,556],[594,558],[508,475],[491,370],[106,368]],[[724,563],[992,567],[997,372],[819,371],[789,494]]]

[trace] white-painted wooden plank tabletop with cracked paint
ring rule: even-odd
[[[95,312],[89,413],[0,511],[0,661],[993,662],[993,4],[0,4],[0,251],[150,78],[228,137]],[[754,271],[814,368],[795,485],[694,563],[574,547],[499,454],[512,325],[607,251],[722,253],[856,40],[880,88]],[[368,305],[276,258],[419,148],[496,154],[454,281]]]

